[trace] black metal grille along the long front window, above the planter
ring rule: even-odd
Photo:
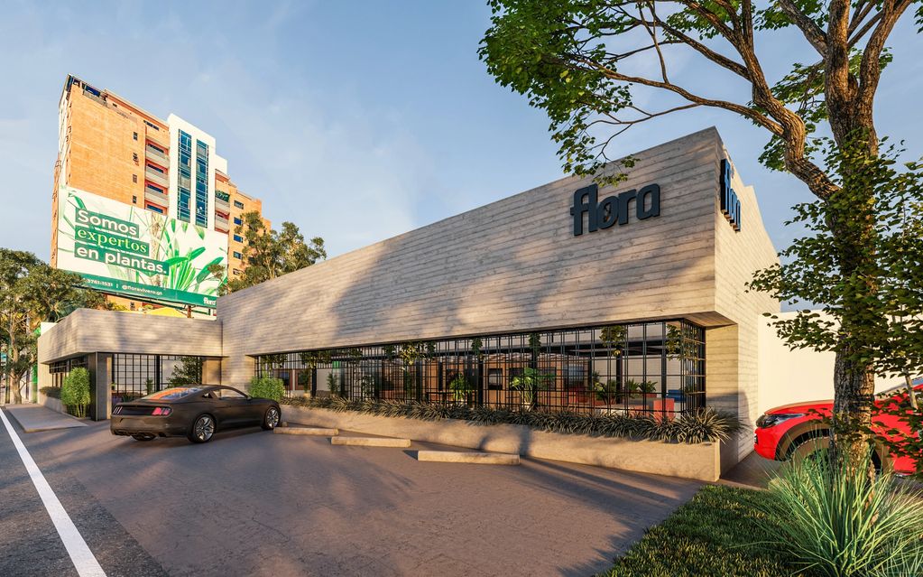
[[[685,320],[257,357],[290,394],[672,416],[705,406],[705,343]]]

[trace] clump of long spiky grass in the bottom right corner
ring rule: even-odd
[[[782,469],[761,502],[783,521],[767,543],[829,577],[923,574],[923,494],[888,473],[869,479],[869,457],[838,463],[821,457]]]

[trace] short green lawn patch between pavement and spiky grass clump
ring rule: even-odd
[[[664,523],[650,529],[603,575],[619,577],[782,577],[791,559],[761,547],[769,529],[755,507],[760,491],[702,487]]]

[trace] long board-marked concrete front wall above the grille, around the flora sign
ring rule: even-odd
[[[628,224],[574,236],[573,192],[590,179],[564,178],[222,296],[222,376],[239,385],[253,374],[247,355],[312,348],[638,319],[727,324],[714,313],[714,228],[727,226],[715,215],[719,150],[713,128],[679,138],[634,154],[628,181],[600,190],[656,183],[656,218],[632,211]]]

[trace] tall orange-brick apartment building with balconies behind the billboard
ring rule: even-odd
[[[246,211],[261,214],[262,202],[234,185],[227,160],[217,154],[210,134],[176,114],[163,120],[74,76],[66,78],[58,126],[52,266],[58,266],[61,246],[59,195],[63,189],[76,189],[222,234],[227,274],[246,268],[244,238],[236,234],[235,224]],[[111,298],[130,308],[151,302],[133,295]]]

